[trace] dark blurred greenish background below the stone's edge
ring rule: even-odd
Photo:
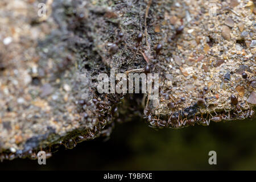
[[[15,159],[0,163],[0,170],[256,170],[255,120],[156,131],[134,119],[117,123],[107,141],[97,138],[60,149],[44,166]],[[217,165],[208,163],[212,150]]]

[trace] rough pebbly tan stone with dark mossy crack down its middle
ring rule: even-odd
[[[208,1],[56,0],[42,18],[38,3],[0,3],[1,160],[108,137],[138,113],[175,129],[253,118],[253,3],[218,1],[212,12]],[[97,92],[99,73],[146,65],[159,74],[158,100]]]

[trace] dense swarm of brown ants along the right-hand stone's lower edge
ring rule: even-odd
[[[248,84],[251,84],[249,78],[247,77],[247,74],[245,72],[242,73],[242,78],[245,79]],[[171,115],[168,118],[155,118],[150,115],[150,112],[145,110],[144,113],[146,114],[147,121],[150,123],[150,127],[153,127],[155,129],[161,129],[163,127],[170,127],[173,129],[179,129],[185,126],[193,126],[196,124],[208,126],[210,124],[210,121],[213,122],[221,122],[221,121],[231,121],[234,119],[245,119],[245,118],[253,118],[255,111],[254,109],[244,110],[243,107],[246,102],[238,101],[238,96],[235,96],[234,94],[230,95],[230,101],[229,104],[232,105],[232,109],[229,111],[226,111],[224,108],[224,111],[216,113],[214,111],[214,114],[199,114],[198,110],[200,107],[207,107],[207,100],[214,99],[214,97],[205,97],[205,93],[208,92],[208,87],[204,87],[203,90],[200,91],[200,97],[198,98],[197,102],[193,106],[189,106],[185,108],[184,110],[171,113]],[[165,96],[165,98],[168,100],[170,97]],[[181,97],[179,101],[177,102],[170,102],[168,103],[168,107],[170,109],[175,109],[176,105],[180,104],[181,102],[184,102],[184,98]],[[249,107],[250,108],[250,107]]]

